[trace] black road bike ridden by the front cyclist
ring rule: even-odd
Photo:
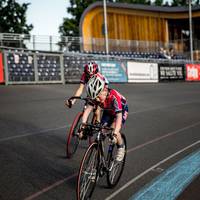
[[[124,170],[127,152],[126,137],[121,134],[125,155],[120,162],[115,159],[117,144],[113,142],[113,129],[110,127],[87,123],[84,131],[97,136],[86,150],[80,164],[76,187],[77,200],[91,199],[98,179],[104,175],[109,188],[116,186]]]

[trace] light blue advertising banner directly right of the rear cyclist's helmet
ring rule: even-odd
[[[100,72],[109,82],[127,82],[127,69],[125,62],[97,61],[97,64],[99,65]]]

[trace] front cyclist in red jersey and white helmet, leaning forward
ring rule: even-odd
[[[103,108],[101,123],[114,128],[113,135],[118,147],[116,160],[122,161],[125,154],[125,146],[122,142],[120,130],[128,116],[128,105],[125,97],[118,91],[106,87],[105,80],[99,74],[95,74],[88,81],[87,94],[91,101],[84,111],[82,128],[84,128],[84,124],[87,122],[87,118],[95,105]]]

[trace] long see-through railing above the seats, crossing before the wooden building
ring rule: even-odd
[[[160,41],[117,40],[109,39],[109,52],[158,52],[160,47],[173,47],[176,53],[184,54],[189,58],[189,39],[174,40],[168,43]],[[195,54],[199,52],[200,40],[193,41]],[[25,35],[0,33],[0,46],[10,46],[29,50],[50,52],[86,52],[105,54],[104,38],[83,38],[65,36]]]

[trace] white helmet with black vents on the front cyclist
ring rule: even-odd
[[[105,78],[97,73],[93,75],[87,83],[87,95],[91,99],[95,99],[105,87]]]

